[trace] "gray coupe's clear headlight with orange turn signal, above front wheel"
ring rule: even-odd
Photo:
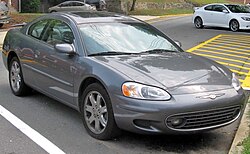
[[[126,82],[122,85],[124,96],[148,99],[148,100],[169,100],[171,96],[163,89],[147,86],[135,82]]]

